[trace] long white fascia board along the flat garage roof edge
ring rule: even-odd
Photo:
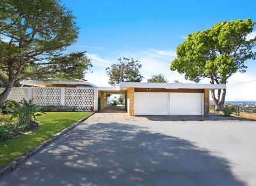
[[[199,83],[137,83],[137,82],[121,82],[121,88],[188,88],[188,89],[225,89],[226,84],[199,84]]]

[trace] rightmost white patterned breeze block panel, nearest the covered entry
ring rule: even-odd
[[[94,106],[94,88],[65,88],[67,110],[89,111]]]

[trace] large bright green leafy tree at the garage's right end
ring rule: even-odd
[[[170,70],[184,74],[186,80],[198,83],[209,78],[211,84],[226,84],[229,77],[244,73],[247,59],[255,59],[256,38],[247,39],[256,22],[251,19],[231,20],[215,24],[212,28],[188,34],[186,41],[177,47],[177,58]],[[226,89],[211,91],[216,106],[225,102]]]

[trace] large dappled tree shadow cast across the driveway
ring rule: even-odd
[[[121,123],[80,125],[0,185],[245,185],[193,142]]]

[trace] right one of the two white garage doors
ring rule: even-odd
[[[202,93],[170,93],[170,115],[204,115]]]

